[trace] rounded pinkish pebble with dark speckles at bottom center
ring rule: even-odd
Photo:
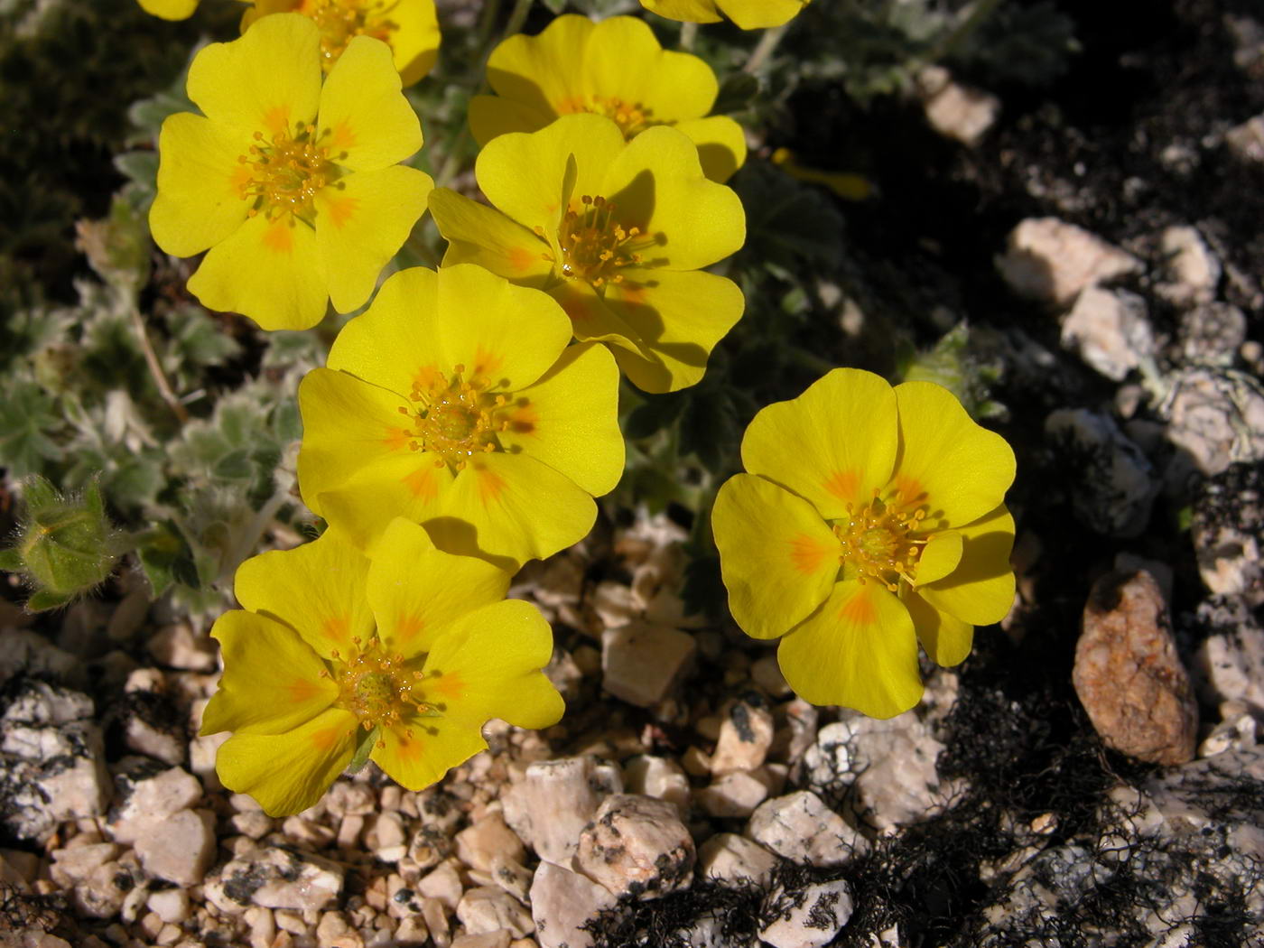
[[[666,800],[607,796],[579,836],[575,868],[616,895],[655,899],[688,889],[694,841]]]

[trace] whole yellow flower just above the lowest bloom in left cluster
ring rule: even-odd
[[[372,549],[397,516],[513,569],[584,537],[623,473],[618,369],[480,267],[392,276],[298,387],[303,501]]]

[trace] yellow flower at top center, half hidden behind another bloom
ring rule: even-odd
[[[487,81],[497,95],[470,100],[480,145],[506,131],[536,131],[559,115],[595,112],[627,138],[655,125],[684,131],[712,181],[728,181],[746,161],[742,126],[727,115],[703,118],[719,91],[715,73],[696,56],[665,51],[632,16],[593,23],[568,14],[537,37],[509,37],[492,52]]]

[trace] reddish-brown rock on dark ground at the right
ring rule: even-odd
[[[1110,573],[1093,584],[1072,680],[1109,746],[1168,766],[1193,760],[1198,705],[1149,573]]]

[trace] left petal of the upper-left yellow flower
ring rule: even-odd
[[[169,115],[158,135],[158,196],[149,209],[154,243],[176,257],[215,246],[245,220],[239,186],[249,140],[192,112]]]

